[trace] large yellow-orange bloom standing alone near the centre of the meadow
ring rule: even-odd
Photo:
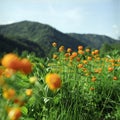
[[[51,90],[56,90],[57,88],[61,87],[61,78],[56,73],[47,74],[45,81]]]

